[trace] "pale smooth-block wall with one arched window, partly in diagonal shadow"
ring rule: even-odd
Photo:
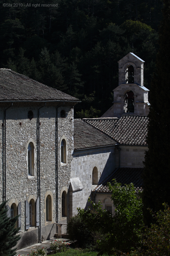
[[[74,151],[71,162],[71,178],[79,177],[83,189],[73,192],[73,205],[71,206],[73,215],[77,214],[77,207],[89,206],[88,198],[92,192],[92,171],[95,166],[100,183],[115,169],[115,146]]]

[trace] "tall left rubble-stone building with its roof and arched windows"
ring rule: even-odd
[[[10,69],[0,69],[0,91],[0,198],[8,216],[20,214],[20,249],[67,222],[78,100]]]

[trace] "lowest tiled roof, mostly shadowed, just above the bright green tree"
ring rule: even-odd
[[[138,192],[139,190],[142,190],[142,179],[141,179],[141,174],[143,172],[143,168],[119,168],[116,172],[114,170],[114,172],[112,172],[101,184],[99,184],[94,190],[93,192],[95,192],[95,190],[97,188],[96,193],[111,193],[111,191],[109,191],[109,188],[107,187],[107,183],[110,182],[112,183],[112,179],[116,179],[116,181],[118,183],[121,183],[122,185],[124,184],[130,184],[133,183],[133,185],[136,188],[136,192]],[[101,187],[100,187],[101,185]]]

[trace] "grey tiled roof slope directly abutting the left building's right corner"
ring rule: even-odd
[[[75,149],[115,145],[115,141],[81,119],[74,119]]]

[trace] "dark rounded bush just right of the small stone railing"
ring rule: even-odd
[[[92,241],[91,232],[86,228],[86,225],[78,214],[69,220],[67,234],[69,235],[69,239],[76,241],[76,245],[79,247],[84,247]]]

